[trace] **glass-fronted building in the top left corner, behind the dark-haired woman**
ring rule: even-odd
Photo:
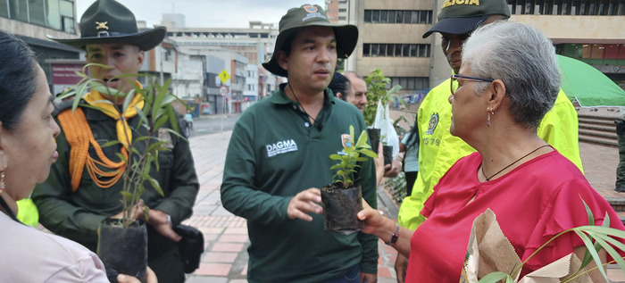
[[[37,62],[46,72],[51,89],[53,64],[50,61],[72,61],[69,66],[57,68],[60,73],[56,77],[67,82],[71,79],[67,80],[63,75],[71,75],[73,71],[68,70],[83,58],[80,50],[46,37],[78,37],[74,0],[0,1],[0,29],[15,34],[32,47],[37,54]]]

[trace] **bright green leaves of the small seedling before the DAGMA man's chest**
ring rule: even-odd
[[[368,136],[367,131],[362,130],[356,143],[354,144],[354,126],[349,126],[350,140],[345,142],[345,147],[341,154],[330,154],[329,158],[338,161],[337,164],[330,167],[330,170],[337,170],[337,173],[332,178],[334,183],[341,183],[343,187],[354,187],[354,173],[357,162],[367,161],[366,157],[362,157],[361,154],[369,156],[371,158],[378,158],[378,154],[371,151],[371,146],[367,144]]]

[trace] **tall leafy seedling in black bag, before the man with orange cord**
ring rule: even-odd
[[[87,64],[89,65],[93,64]],[[117,89],[105,87],[96,79],[89,78],[84,72],[87,66],[83,72],[77,72],[83,78],[79,84],[59,98],[75,96],[72,111],[76,111],[86,90],[96,90],[101,94],[112,96],[113,100],[123,99],[122,105],[114,105],[104,100],[98,103],[112,104],[121,113],[126,113],[129,107],[135,107],[140,119],[138,125],[129,128],[131,133],[126,134],[124,142],[114,140],[103,146],[120,148],[117,155],[122,162],[119,174],[123,179],[121,190],[123,215],[121,219],[108,218],[100,223],[97,254],[104,262],[111,282],[117,282],[116,277],[119,273],[135,276],[145,282],[147,231],[145,222],[137,221],[135,218],[136,207],[146,188],[155,189],[161,196],[163,195],[161,186],[150,176],[150,171],[159,170],[159,152],[171,150],[171,135],[182,137],[178,132],[178,115],[171,106],[171,102],[178,97],[168,91],[169,80],[163,86],[154,83],[146,88],[136,86],[128,94],[124,94]],[[123,77],[120,76],[119,79]],[[142,96],[143,107],[133,106],[131,103],[136,94]],[[103,110],[91,104],[81,106]],[[144,213],[147,219],[148,210],[149,208],[144,206],[144,211],[138,213]]]

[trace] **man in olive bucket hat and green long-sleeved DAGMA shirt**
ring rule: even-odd
[[[263,67],[287,77],[241,115],[230,138],[221,202],[247,220],[249,282],[377,281],[377,239],[323,229],[320,187],[334,172],[342,137],[365,129],[362,114],[332,95],[337,56],[354,50],[358,29],[330,24],[318,5],[290,9]],[[353,137],[354,138],[354,137]],[[355,140],[355,139],[353,139]],[[362,197],[376,206],[373,160],[359,163]]]

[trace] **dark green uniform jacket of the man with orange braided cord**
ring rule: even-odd
[[[71,111],[71,109],[65,111]],[[85,112],[91,131],[101,146],[109,141],[117,140],[115,120],[91,108],[82,107],[82,111]],[[129,124],[133,129],[137,129],[139,119],[138,116],[129,119]],[[60,123],[59,126],[61,126]],[[142,129],[144,135],[145,130]],[[160,170],[156,171],[153,166],[150,172],[150,175],[161,185],[165,196],[160,196],[146,182],[146,191],[142,198],[150,209],[170,214],[175,226],[191,216],[199,183],[188,142],[175,135],[169,133],[168,135],[171,136],[173,147],[171,151],[159,153]],[[133,138],[140,136],[135,133]],[[55,234],[68,237],[95,252],[96,229],[100,221],[122,211],[120,192],[123,180],[118,180],[112,187],[97,187],[85,168],[78,190],[72,192],[69,172],[70,146],[63,127],[59,137],[56,137],[56,145],[59,159],[52,164],[48,179],[37,185],[32,195],[39,210],[39,221]],[[143,144],[138,143],[137,149],[143,152],[145,148],[141,148],[140,145]],[[120,149],[121,145],[118,144],[103,147],[102,151],[112,162],[118,162],[120,158],[117,154],[120,153]],[[89,154],[96,160],[100,160],[96,157],[93,146],[89,146]],[[158,235],[154,229],[148,229],[148,236],[150,241],[148,253],[152,253],[151,255],[156,255],[154,252],[159,248],[158,243],[171,242]]]

